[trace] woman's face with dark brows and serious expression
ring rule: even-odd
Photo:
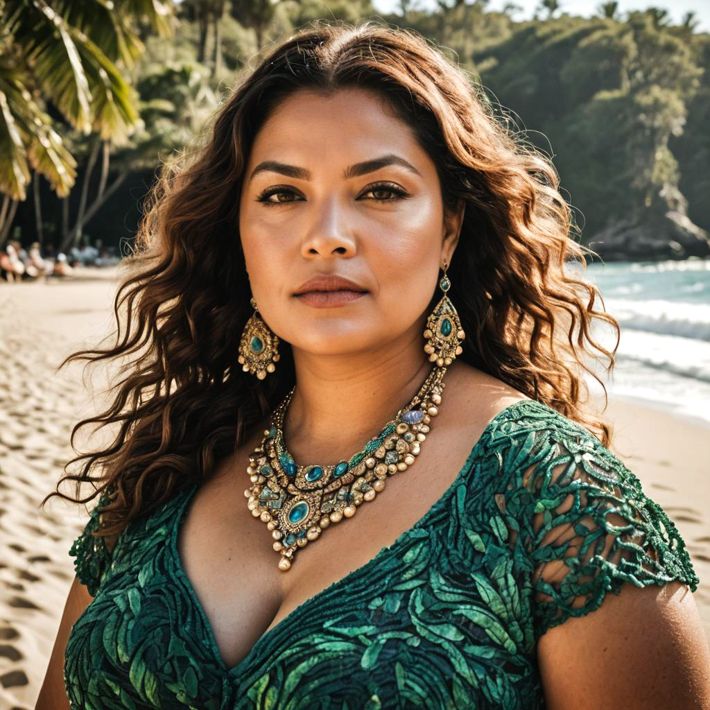
[[[395,339],[418,346],[462,217],[444,223],[434,163],[378,94],[297,92],[258,132],[241,190],[259,312],[294,353],[356,354]],[[295,295],[317,275],[344,276],[366,293]]]

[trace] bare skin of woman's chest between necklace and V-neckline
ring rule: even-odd
[[[442,432],[413,466],[388,476],[386,488],[356,515],[331,523],[298,550],[288,572],[278,569],[271,531],[246,506],[250,453],[245,447],[200,486],[176,536],[182,569],[230,668],[305,601],[368,564],[420,521],[464,467],[471,437]]]

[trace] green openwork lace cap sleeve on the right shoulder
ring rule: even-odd
[[[521,540],[532,574],[535,638],[584,616],[608,591],[699,579],[674,523],[599,439],[556,415],[527,439]]]

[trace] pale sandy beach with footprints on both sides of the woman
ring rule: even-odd
[[[113,328],[116,269],[76,278],[0,283],[0,709],[33,708],[74,571],[68,550],[87,514],[59,498],[74,455],[72,426],[97,408],[70,352]],[[677,525],[701,579],[694,594],[710,637],[710,430],[639,403],[611,400],[613,450]],[[82,439],[76,442],[82,449]],[[68,488],[65,488],[68,490]],[[90,504],[91,506],[94,503]]]

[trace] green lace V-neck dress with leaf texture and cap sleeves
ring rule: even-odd
[[[535,644],[548,628],[624,584],[699,582],[633,473],[525,400],[412,528],[228,668],[176,547],[196,490],[134,520],[112,555],[91,535],[97,508],[72,545],[94,596],[65,652],[72,710],[543,708]]]

